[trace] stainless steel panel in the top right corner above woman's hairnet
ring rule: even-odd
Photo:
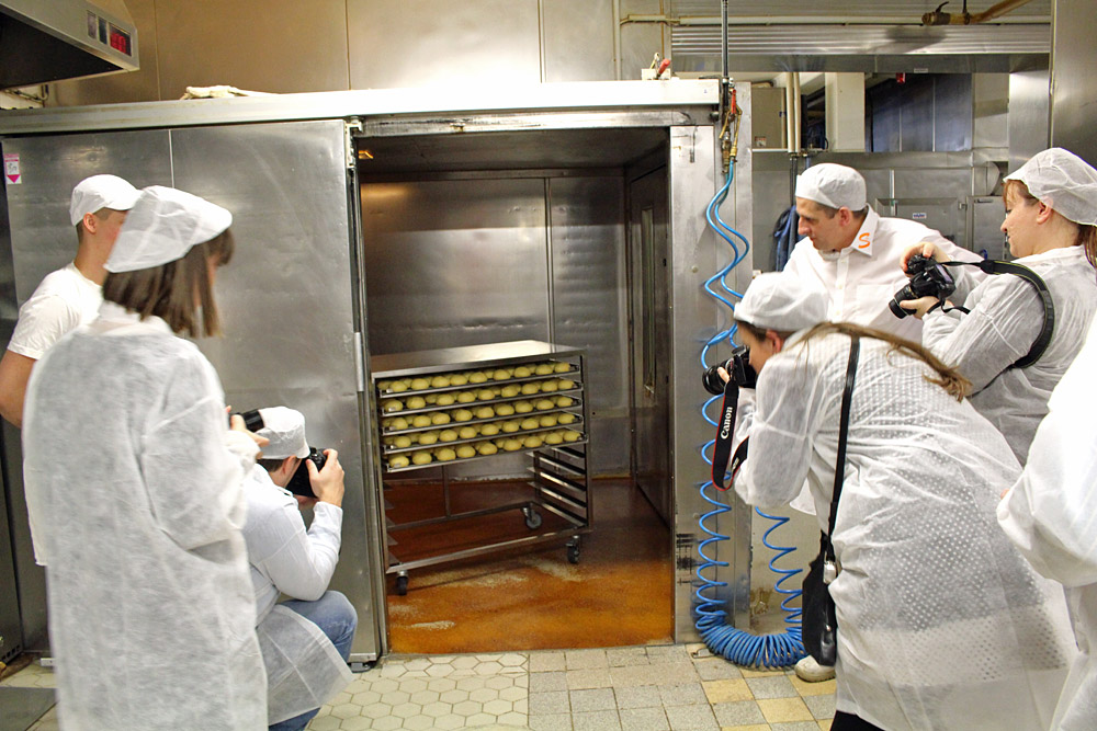
[[[1051,53],[1051,144],[1097,164],[1097,14],[1093,0],[1055,0]]]

